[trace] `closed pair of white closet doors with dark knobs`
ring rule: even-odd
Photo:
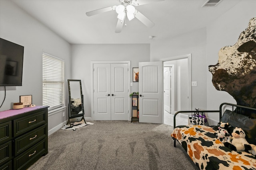
[[[94,120],[128,120],[128,64],[94,64]]]

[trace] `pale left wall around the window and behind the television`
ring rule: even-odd
[[[0,111],[12,109],[21,95],[32,95],[33,104],[42,105],[43,51],[63,59],[65,77],[70,78],[70,44],[9,0],[0,0],[0,37],[24,46],[22,86],[6,86],[6,99]],[[0,86],[1,104],[3,100],[4,87]],[[62,117],[62,112],[48,117],[48,130],[66,121],[68,115]]]

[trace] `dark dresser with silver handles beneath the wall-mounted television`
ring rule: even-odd
[[[26,169],[47,153],[47,106],[0,112],[0,170]]]

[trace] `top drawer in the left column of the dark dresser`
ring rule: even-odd
[[[12,139],[12,121],[0,123],[0,145]]]

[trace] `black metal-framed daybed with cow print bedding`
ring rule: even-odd
[[[222,115],[224,109],[225,112]],[[245,131],[246,140],[250,144],[256,145],[256,119],[242,115],[248,111],[255,112],[256,108],[223,103],[219,110],[179,111],[174,115],[174,131],[171,134],[174,139],[174,147],[178,141],[201,170],[256,170],[256,158],[253,154],[230,150],[216,138],[217,126],[184,125],[176,127],[176,115],[179,113],[213,114],[217,112],[220,121],[228,122],[232,127],[239,126]]]

